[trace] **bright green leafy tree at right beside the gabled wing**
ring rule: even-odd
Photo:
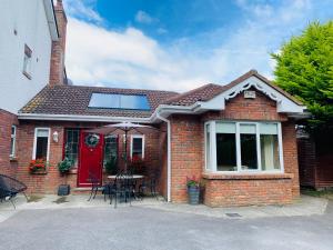
[[[312,113],[312,132],[333,130],[333,21],[310,23],[272,53],[279,87],[300,99]]]

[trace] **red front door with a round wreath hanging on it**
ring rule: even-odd
[[[81,131],[78,187],[91,186],[90,173],[102,181],[103,139],[102,136]]]

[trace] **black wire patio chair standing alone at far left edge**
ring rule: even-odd
[[[18,193],[23,193],[28,201],[28,197],[24,193],[26,190],[27,190],[27,186],[23,182],[12,177],[0,174],[0,201],[1,202],[8,199],[16,209],[16,204],[13,203],[12,198],[14,198]]]

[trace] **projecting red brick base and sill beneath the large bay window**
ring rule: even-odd
[[[285,204],[292,201],[292,174],[204,174],[210,207]]]

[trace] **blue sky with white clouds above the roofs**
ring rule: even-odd
[[[74,84],[185,91],[250,69],[273,79],[270,52],[332,0],[63,0]]]

